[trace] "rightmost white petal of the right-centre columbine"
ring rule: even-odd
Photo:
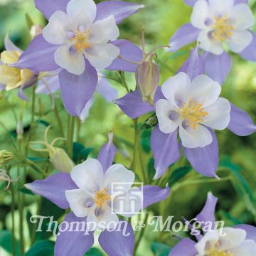
[[[205,109],[208,112],[206,117],[203,117],[202,124],[218,130],[223,130],[228,127],[230,122],[230,102],[222,97]]]

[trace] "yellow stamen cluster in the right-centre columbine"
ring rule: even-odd
[[[196,129],[199,122],[203,121],[203,117],[208,115],[208,112],[204,111],[203,105],[198,102],[184,102],[182,107],[178,109],[178,113],[181,117],[186,119],[186,125],[190,125],[193,129]]]

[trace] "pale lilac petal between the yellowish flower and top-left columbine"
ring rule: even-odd
[[[36,88],[36,93],[50,95],[60,90],[58,73],[59,72],[53,73],[53,75],[47,76],[39,80]]]

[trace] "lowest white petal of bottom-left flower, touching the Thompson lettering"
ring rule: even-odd
[[[87,216],[87,223],[95,223],[96,228],[104,229],[107,225],[110,225],[109,228],[114,228],[118,222],[119,219],[110,206],[97,208]]]

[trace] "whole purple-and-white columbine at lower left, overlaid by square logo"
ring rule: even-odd
[[[170,193],[169,187],[159,188],[158,186],[142,186],[132,188],[134,173],[127,170],[121,164],[112,165],[117,152],[112,144],[112,134],[107,144],[102,146],[97,159],[88,159],[82,164],[75,166],[71,174],[51,175],[43,181],[33,181],[26,184],[26,188],[34,193],[48,198],[57,206],[63,209],[71,208],[73,213],[65,217],[65,221],[90,223],[118,223],[116,213],[119,213],[119,199],[115,198],[111,204],[111,198],[115,196],[111,191],[112,183],[120,183],[124,196],[132,190],[143,191],[143,202],[136,203],[136,210],[146,208],[153,203],[165,200]],[[122,185],[123,183],[123,185]],[[119,213],[121,214],[121,213]],[[130,214],[122,213],[125,217]],[[133,255],[134,232],[132,226],[127,222],[129,235],[125,236],[122,230],[103,230],[100,233],[99,242],[108,255]],[[121,229],[124,225],[121,226]],[[121,232],[120,232],[121,231]],[[116,241],[118,246],[113,246]],[[63,231],[57,237],[55,243],[55,255],[84,255],[94,243],[93,230],[85,235],[85,232]]]

